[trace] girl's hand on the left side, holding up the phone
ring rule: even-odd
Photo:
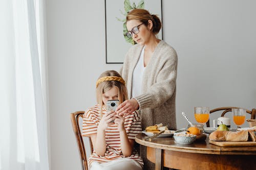
[[[114,123],[111,123],[111,121],[116,118],[115,115],[116,112],[114,110],[104,114],[99,122],[98,130],[105,131],[106,128],[108,128],[110,125],[113,125]]]

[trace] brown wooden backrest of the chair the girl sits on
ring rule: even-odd
[[[78,151],[80,154],[80,160],[81,160],[81,165],[82,165],[82,169],[83,170],[88,170],[88,162],[87,162],[87,157],[86,157],[86,149],[84,148],[84,142],[83,142],[83,137],[82,137],[82,132],[80,130],[80,128],[82,126],[80,126],[80,121],[79,119],[82,119],[84,114],[84,111],[76,111],[74,113],[70,114],[70,118],[71,118],[71,123],[72,123],[72,127],[73,127],[73,131],[75,134],[75,138],[76,138],[76,142],[77,142],[77,147],[78,147]],[[91,138],[89,138],[89,145],[90,145],[90,151],[92,154],[93,151],[93,145],[91,142]]]

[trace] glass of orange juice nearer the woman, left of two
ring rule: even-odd
[[[195,118],[202,125],[209,120],[209,113],[209,107],[195,107]]]

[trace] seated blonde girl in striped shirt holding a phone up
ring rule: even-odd
[[[82,133],[91,137],[94,148],[89,158],[90,170],[141,170],[143,161],[134,150],[135,136],[141,133],[139,113],[123,117],[106,111],[108,100],[127,100],[124,80],[114,70],[105,71],[96,83],[96,93],[98,104],[83,115]]]

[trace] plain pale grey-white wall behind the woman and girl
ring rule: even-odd
[[[255,1],[163,0],[163,38],[178,53],[180,112],[194,106],[256,107]],[[69,114],[96,102],[105,64],[104,1],[47,1],[51,169],[79,169]],[[217,116],[211,115],[211,119]],[[246,123],[247,126],[247,123]]]

